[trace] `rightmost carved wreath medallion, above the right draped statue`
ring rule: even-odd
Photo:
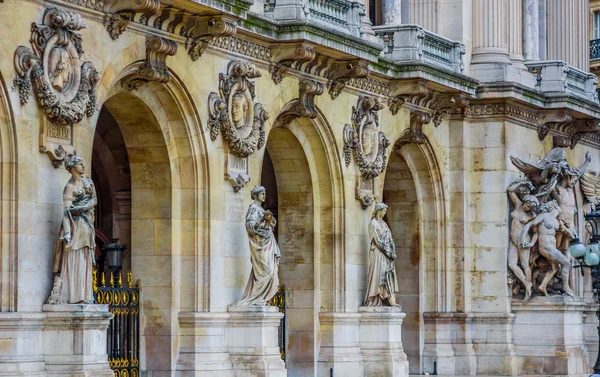
[[[351,154],[365,179],[379,176],[387,163],[385,151],[390,141],[379,131],[377,111],[384,108],[378,99],[360,97],[356,107],[352,107],[352,125],[344,127],[344,158],[350,165]]]

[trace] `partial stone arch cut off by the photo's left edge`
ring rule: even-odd
[[[8,88],[0,72],[0,312],[17,310],[17,140]]]

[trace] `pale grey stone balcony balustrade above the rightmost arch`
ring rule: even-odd
[[[374,26],[385,46],[384,56],[401,61],[422,61],[463,73],[465,45],[444,38],[418,25]]]

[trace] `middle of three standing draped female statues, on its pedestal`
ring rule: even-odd
[[[279,287],[279,258],[281,252],[273,229],[277,221],[271,211],[265,211],[262,203],[267,193],[264,187],[255,186],[251,191],[254,203],[246,213],[246,232],[250,242],[252,271],[244,296],[235,305],[267,305]]]

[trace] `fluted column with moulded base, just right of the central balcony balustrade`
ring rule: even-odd
[[[473,60],[510,63],[508,55],[509,0],[473,0]]]

